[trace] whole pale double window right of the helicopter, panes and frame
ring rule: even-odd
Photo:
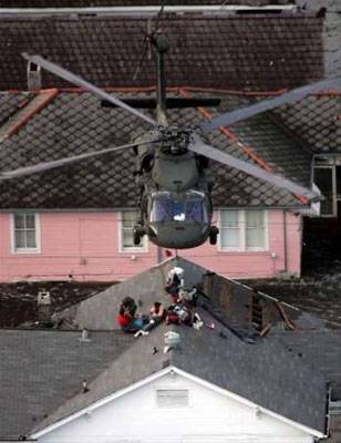
[[[267,212],[219,210],[220,250],[267,250]]]

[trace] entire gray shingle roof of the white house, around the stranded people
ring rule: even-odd
[[[140,339],[118,331],[113,319],[124,296],[133,295],[141,311],[155,299],[169,305],[163,288],[175,264],[185,270],[186,286],[199,285],[203,295],[195,311],[204,320],[202,329],[162,324]],[[258,324],[251,316],[255,309],[250,310],[256,301],[264,306]],[[332,381],[335,399],[341,395],[340,331],[326,329],[323,320],[289,305],[279,309],[276,299],[179,257],[68,308],[54,322],[62,330],[0,330],[0,353],[7,354],[0,359],[1,370],[8,380],[1,387],[7,404],[1,437],[41,430],[170,365],[321,432],[326,382]],[[214,329],[206,326],[211,322]],[[70,324],[76,329],[63,329]],[[81,340],[83,328],[90,330],[90,341]],[[180,346],[164,353],[164,333],[169,329],[179,332]]]

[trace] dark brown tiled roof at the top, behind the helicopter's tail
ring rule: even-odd
[[[162,20],[170,41],[169,85],[273,90],[323,76],[322,19],[309,14],[176,16]],[[145,60],[147,19],[42,17],[0,19],[0,90],[27,89],[22,52],[40,53],[97,86],[155,84]],[[46,72],[42,87],[69,86]]]

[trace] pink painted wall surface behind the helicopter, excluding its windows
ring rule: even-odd
[[[156,265],[157,248],[151,243],[146,253],[120,251],[117,217],[117,213],[41,213],[41,253],[12,254],[10,215],[0,214],[0,281],[65,280],[70,274],[81,281],[112,281]],[[300,218],[289,213],[286,218],[287,271],[299,275]],[[219,251],[206,243],[178,254],[229,278],[273,277],[286,268],[283,213],[270,210],[268,222],[268,251]]]

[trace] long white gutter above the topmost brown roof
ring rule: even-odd
[[[95,16],[155,16],[159,7],[93,7],[93,8],[0,8],[1,16],[64,16],[64,14],[95,14]],[[268,4],[265,7],[248,7],[235,4],[221,6],[165,6],[164,13],[207,13],[221,12],[297,12],[294,4]]]

